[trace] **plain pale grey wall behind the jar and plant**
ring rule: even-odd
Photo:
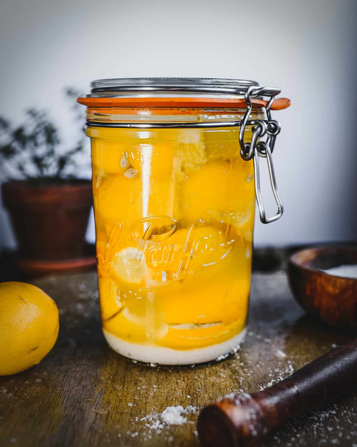
[[[67,85],[88,91],[97,78],[204,76],[281,87],[292,101],[274,114],[285,212],[270,225],[257,219],[255,244],[356,239],[356,4],[1,0],[0,114],[20,122],[26,107],[47,108],[65,144],[75,136]],[[0,245],[14,244],[0,209]]]

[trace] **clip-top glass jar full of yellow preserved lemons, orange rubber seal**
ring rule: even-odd
[[[105,338],[149,363],[228,354],[244,339],[249,303],[257,182],[255,162],[243,158],[263,135],[268,102],[251,81],[91,85],[79,102],[88,107]]]

